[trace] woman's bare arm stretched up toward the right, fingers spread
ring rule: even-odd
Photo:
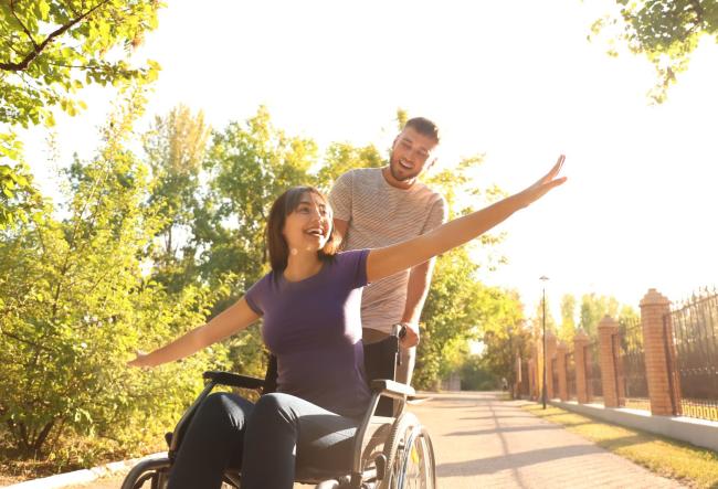
[[[367,257],[368,280],[377,281],[397,272],[411,268],[433,256],[481,236],[519,209],[526,208],[543,196],[549,190],[563,183],[566,178],[557,177],[563,166],[564,158],[561,155],[551,171],[519,193],[481,211],[450,221],[421,236],[392,246],[372,249]]]

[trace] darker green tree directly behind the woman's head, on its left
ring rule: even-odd
[[[201,283],[230,287],[218,313],[242,296],[267,270],[265,226],[270,206],[286,189],[313,184],[309,169],[317,160],[310,139],[287,136],[260,107],[244,123],[215,131],[207,153],[207,194],[192,224]],[[231,340],[233,368],[261,373],[265,364],[258,328]]]

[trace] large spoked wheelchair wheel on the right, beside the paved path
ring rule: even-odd
[[[381,489],[435,489],[434,449],[426,429],[412,413],[392,426],[384,446],[387,470]]]

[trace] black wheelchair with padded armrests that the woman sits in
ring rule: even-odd
[[[406,400],[414,390],[395,382],[400,355],[399,336],[365,344],[365,369],[372,392],[369,408],[357,428],[352,466],[345,470],[327,472],[313,467],[298,466],[295,483],[315,489],[435,489],[434,450],[429,432],[416,416],[405,410]],[[167,457],[148,459],[136,465],[125,478],[122,489],[165,489],[169,470],[189,422],[202,401],[218,385],[256,390],[261,394],[276,390],[277,365],[270,358],[264,380],[230,372],[204,372],[205,386],[166,435],[169,444]],[[222,488],[239,488],[240,470],[226,469]],[[201,488],[198,488],[201,489]]]

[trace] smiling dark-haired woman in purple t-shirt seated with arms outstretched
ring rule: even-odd
[[[563,156],[543,178],[488,208],[413,240],[337,253],[331,209],[317,190],[293,188],[272,205],[272,272],[244,297],[134,366],[190,355],[263,318],[262,336],[277,358],[277,392],[256,404],[229,393],[205,398],[171,468],[170,488],[219,488],[229,467],[244,489],[292,488],[295,466],[350,467],[352,439],[370,392],[361,342],[361,288],[421,264],[494,227],[563,183]]]

